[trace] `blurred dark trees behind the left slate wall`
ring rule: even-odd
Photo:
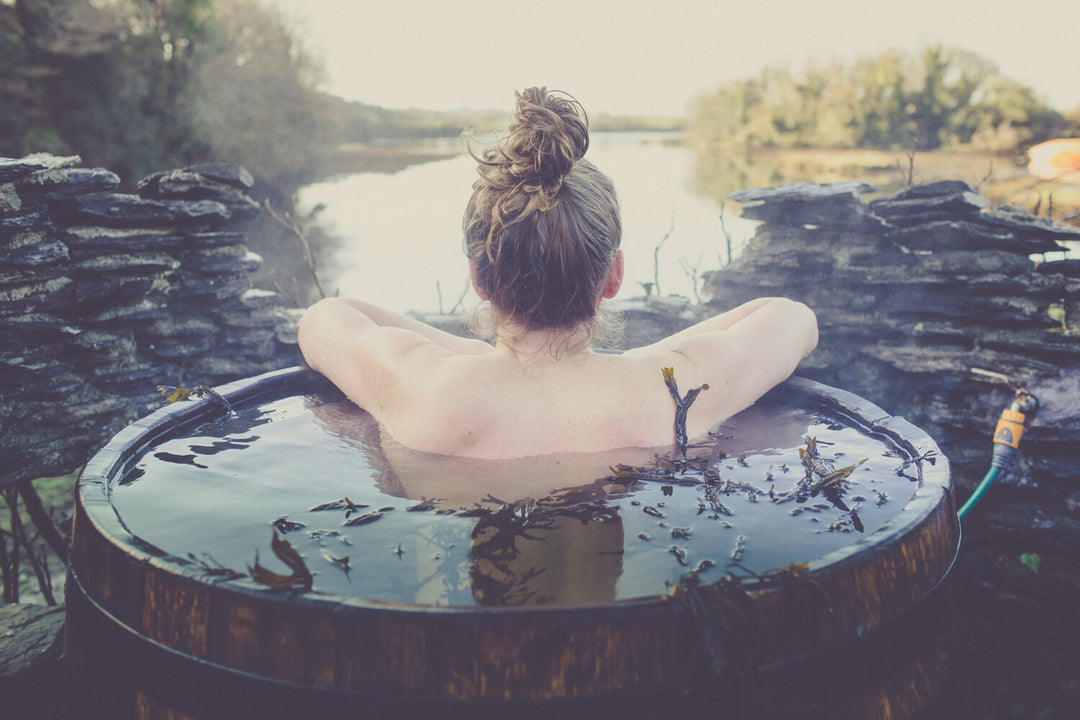
[[[80,154],[127,186],[234,162],[287,194],[318,166],[318,66],[254,0],[0,4],[0,150]]]

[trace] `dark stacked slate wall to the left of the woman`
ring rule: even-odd
[[[78,467],[161,405],[158,384],[218,384],[295,364],[295,325],[253,289],[239,231],[251,174],[201,165],[118,193],[79,158],[0,159],[2,483]]]

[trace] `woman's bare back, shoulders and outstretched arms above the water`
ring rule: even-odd
[[[748,407],[816,343],[813,313],[764,299],[621,355],[522,352],[444,334],[349,300],[305,315],[305,357],[401,444],[473,458],[519,458],[661,447],[675,404],[708,384],[687,419],[691,437]]]

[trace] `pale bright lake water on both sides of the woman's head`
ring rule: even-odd
[[[692,190],[694,152],[664,133],[595,133],[588,158],[615,181],[622,207],[626,280],[620,298],[656,283],[666,295],[694,298],[693,269],[727,261],[719,203]],[[450,310],[468,287],[461,216],[476,178],[476,162],[457,138],[418,151],[450,154],[394,173],[363,172],[301,189],[301,215],[323,205],[320,222],[339,242],[324,250],[320,275],[327,294],[359,297],[391,310]],[[456,154],[455,154],[456,153]],[[724,221],[733,252],[756,221],[728,203]],[[658,261],[657,245],[664,239]],[[467,308],[475,303],[471,290]]]

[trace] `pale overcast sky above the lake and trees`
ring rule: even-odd
[[[529,85],[590,112],[681,116],[767,66],[890,47],[972,51],[1059,110],[1080,106],[1080,0],[268,0],[327,70],[384,107],[509,110]]]

